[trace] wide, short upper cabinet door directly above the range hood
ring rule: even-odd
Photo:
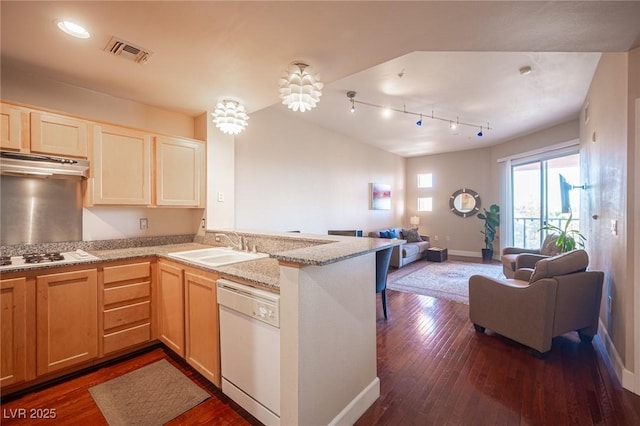
[[[31,152],[87,158],[88,122],[63,115],[31,113]]]

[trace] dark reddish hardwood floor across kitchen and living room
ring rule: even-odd
[[[379,299],[377,315],[381,396],[357,425],[640,424],[640,397],[622,389],[598,337],[593,344],[581,343],[577,335],[558,337],[541,360],[506,338],[476,333],[467,305],[387,293],[389,319]],[[1,423],[106,424],[87,389],[162,358],[212,395],[170,425],[257,423],[164,349],[3,401]],[[7,418],[18,408],[55,408],[57,418]]]

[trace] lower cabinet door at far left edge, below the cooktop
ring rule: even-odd
[[[26,278],[0,281],[0,386],[25,380],[27,345]]]

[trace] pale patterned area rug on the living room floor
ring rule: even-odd
[[[408,274],[401,273],[402,269],[404,268],[389,275],[388,289],[452,300],[467,305],[471,275],[504,278],[502,265],[456,260],[441,263],[425,262],[422,267]]]

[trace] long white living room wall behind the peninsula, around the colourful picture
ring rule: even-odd
[[[300,113],[297,113],[300,114]],[[266,231],[403,225],[405,160],[273,106],[236,137],[236,227]],[[391,185],[391,210],[369,209],[369,183]]]

